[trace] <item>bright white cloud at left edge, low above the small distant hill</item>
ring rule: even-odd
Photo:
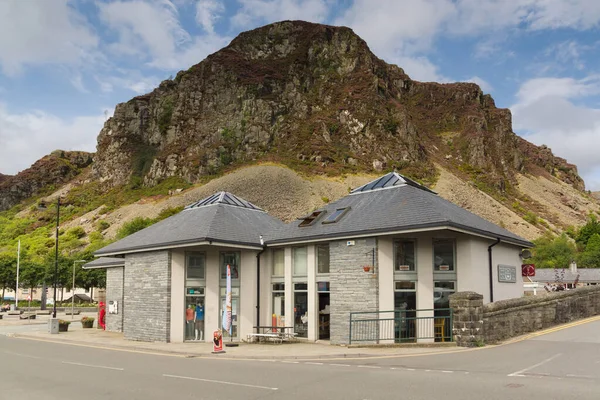
[[[95,151],[105,120],[99,114],[64,120],[43,111],[11,114],[0,103],[0,173],[16,174],[57,149]]]

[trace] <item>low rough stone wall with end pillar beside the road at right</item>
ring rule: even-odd
[[[454,337],[459,346],[498,343],[529,332],[600,314],[600,286],[587,286],[483,304],[483,296],[450,296]]]

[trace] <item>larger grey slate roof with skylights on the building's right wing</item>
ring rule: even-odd
[[[392,174],[399,175],[391,173],[386,176],[390,178],[389,175]],[[382,178],[373,182],[380,179]],[[500,238],[523,247],[533,246],[531,242],[458,207],[428,189],[424,190],[418,184],[396,183],[387,187],[376,185],[373,187],[375,188],[363,187],[362,191],[354,191],[350,195],[328,204],[323,208],[326,213],[320,215],[309,226],[299,227],[301,221],[296,221],[268,234],[265,236],[265,242],[282,244],[449,226]],[[338,222],[322,223],[328,215],[343,207],[350,209]]]

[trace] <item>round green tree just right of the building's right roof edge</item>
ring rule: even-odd
[[[554,237],[546,234],[534,240],[531,262],[537,268],[568,268],[577,254],[577,249],[566,234]]]

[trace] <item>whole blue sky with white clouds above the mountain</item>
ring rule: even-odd
[[[598,0],[0,0],[0,173],[95,151],[116,104],[288,19],[348,26],[413,79],[478,83],[600,190]]]

